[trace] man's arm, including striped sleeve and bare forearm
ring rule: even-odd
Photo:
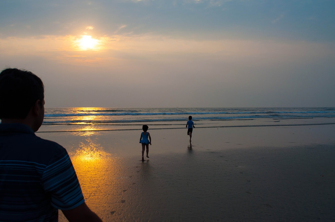
[[[51,193],[51,205],[61,209],[70,222],[102,222],[85,204],[66,149],[52,141],[43,142],[45,147],[54,149],[42,178],[44,191]]]

